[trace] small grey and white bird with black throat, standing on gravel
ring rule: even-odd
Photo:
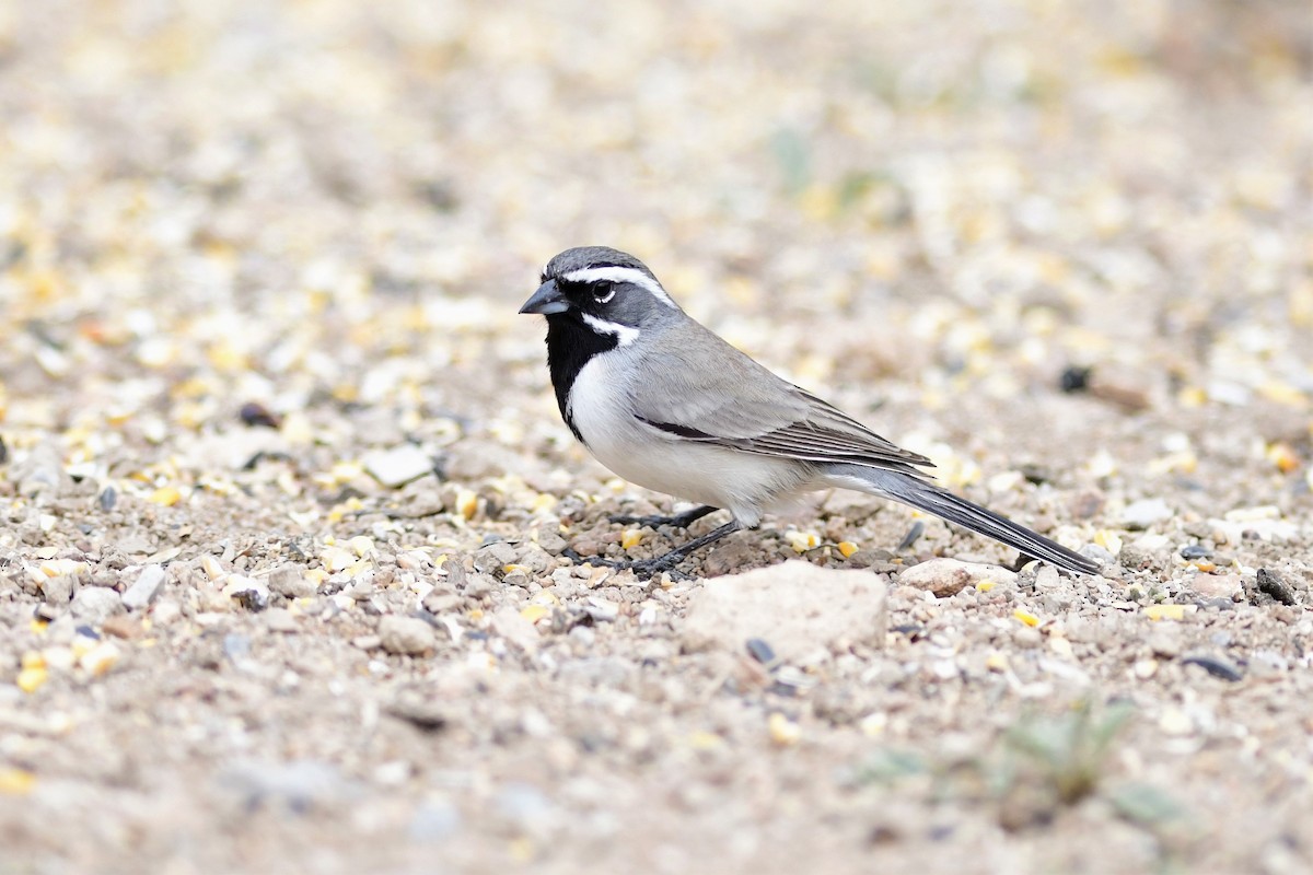
[[[553,257],[521,314],[548,323],[548,370],[566,425],[607,468],[695,502],[671,517],[614,522],[687,529],[729,522],[651,559],[572,560],[675,572],[702,547],[756,529],[769,509],[818,489],[856,489],[910,505],[1070,573],[1091,559],[937,485],[934,463],[777,376],[689,316],[634,256],[576,247]]]

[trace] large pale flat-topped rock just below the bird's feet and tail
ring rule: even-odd
[[[785,662],[852,643],[881,647],[886,590],[884,579],[869,572],[797,559],[716,577],[689,596],[683,645],[743,653],[750,638],[760,638]]]

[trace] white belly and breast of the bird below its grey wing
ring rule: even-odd
[[[638,421],[626,405],[624,378],[609,353],[575,378],[570,415],[593,457],[647,489],[730,510],[744,526],[790,496],[806,479],[788,459],[701,445]]]

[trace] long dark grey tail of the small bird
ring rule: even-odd
[[[926,513],[932,513],[948,522],[957,523],[964,529],[970,529],[977,534],[999,540],[1008,547],[1015,547],[1027,556],[1050,561],[1065,571],[1082,575],[1099,573],[1099,565],[1081,554],[1067,550],[1062,544],[1045,538],[1037,531],[1031,531],[1007,517],[973,504],[966,499],[955,496],[952,492],[934,483],[927,483],[926,480],[898,471],[886,471],[859,464],[834,466],[831,476],[839,476],[843,480],[859,480],[863,485],[851,483],[851,480],[850,483],[836,485],[859,488],[863,492],[872,492],[886,499],[893,499],[894,501],[901,501]]]

